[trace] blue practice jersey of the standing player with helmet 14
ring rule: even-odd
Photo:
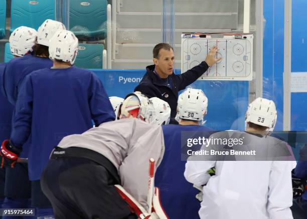
[[[21,147],[30,133],[29,178],[40,179],[53,147],[64,136],[81,134],[115,119],[99,78],[89,70],[41,69],[28,75],[19,92],[11,140]]]

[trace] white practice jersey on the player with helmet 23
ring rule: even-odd
[[[263,138],[246,132],[241,136],[261,142]],[[217,137],[219,133],[214,134]],[[249,135],[249,136],[248,136]],[[272,138],[272,137],[267,137]],[[285,143],[286,144],[286,143]],[[193,161],[192,161],[193,160]],[[201,219],[292,219],[291,170],[293,155],[281,160],[266,161],[195,161],[188,159],[186,179],[203,187]],[[216,168],[214,176],[207,171]]]

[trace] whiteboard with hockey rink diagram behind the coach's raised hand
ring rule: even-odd
[[[199,80],[252,80],[252,42],[247,39],[182,39],[182,72],[205,61],[214,46],[222,60]]]

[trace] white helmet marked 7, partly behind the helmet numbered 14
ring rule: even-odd
[[[61,22],[47,19],[37,31],[37,43],[49,47],[49,40],[57,31],[61,30],[66,30]]]

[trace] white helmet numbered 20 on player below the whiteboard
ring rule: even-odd
[[[202,90],[188,88],[178,97],[176,121],[180,119],[201,121],[207,114],[208,98]]]

